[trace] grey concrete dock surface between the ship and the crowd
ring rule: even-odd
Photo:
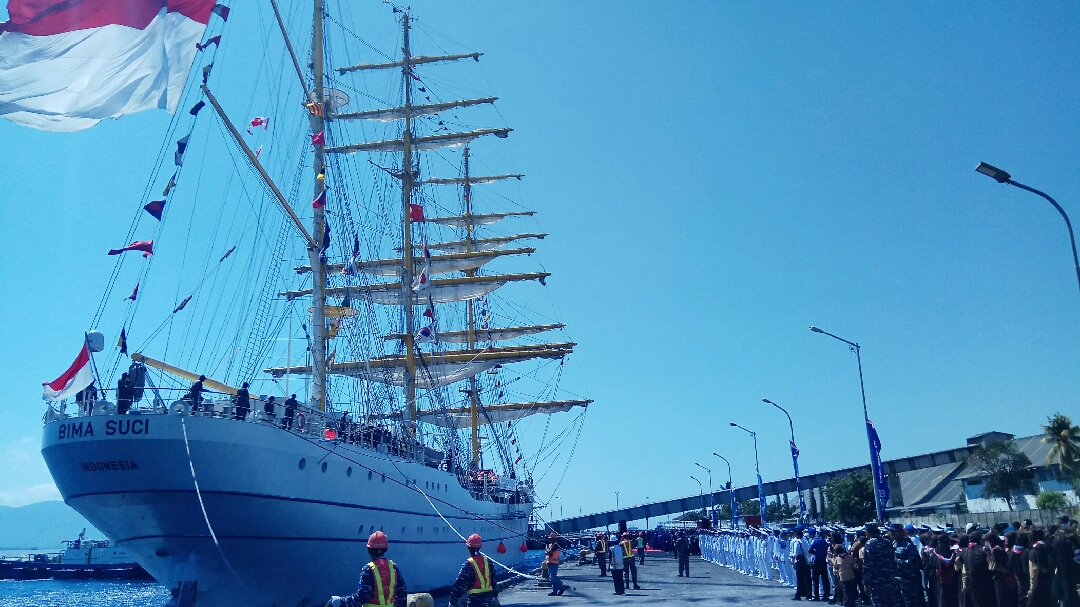
[[[504,607],[551,605],[760,605],[778,607],[792,603],[794,589],[775,580],[744,576],[700,557],[690,558],[690,577],[678,577],[678,562],[671,553],[645,557],[637,565],[637,583],[642,590],[626,589],[615,594],[611,577],[599,576],[595,565],[580,566],[575,561],[559,566],[558,577],[569,589],[563,596],[548,596],[550,588],[539,588],[534,580],[516,583],[499,594]],[[800,603],[801,604],[801,603]]]

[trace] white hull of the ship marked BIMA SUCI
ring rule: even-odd
[[[454,582],[468,556],[454,528],[480,534],[507,565],[522,559],[530,503],[477,500],[449,472],[355,445],[231,419],[183,421],[220,548],[181,416],[52,421],[42,455],[65,502],[160,582],[195,582],[199,607],[351,594],[376,529],[390,537],[388,556],[410,592]]]

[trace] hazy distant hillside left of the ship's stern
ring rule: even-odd
[[[0,505],[0,549],[59,550],[86,528],[86,538],[105,536],[63,501],[40,501],[19,508]]]

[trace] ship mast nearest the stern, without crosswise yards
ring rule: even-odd
[[[323,133],[326,121],[323,113],[326,108],[323,103],[323,0],[315,0],[314,27],[311,40],[311,68],[314,72],[314,98],[311,104],[308,120],[312,133]],[[325,136],[324,136],[325,139]],[[315,143],[315,158],[312,168],[315,173],[314,197],[326,187],[326,166],[324,144]],[[312,217],[312,239],[308,243],[308,260],[311,262],[311,407],[320,410],[326,408],[326,325],[323,307],[326,305],[326,268],[323,265],[323,234],[325,233],[326,214],[323,208],[315,207]]]

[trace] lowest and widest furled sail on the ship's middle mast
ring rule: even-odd
[[[416,359],[417,388],[432,389],[447,386],[495,367],[531,359],[562,359],[573,351],[575,343],[541,343],[486,350],[454,350],[420,354]],[[265,369],[274,377],[286,373],[310,375],[311,366],[273,367]],[[405,386],[405,356],[394,354],[368,361],[334,363],[327,369],[334,375],[356,377],[366,381]]]

